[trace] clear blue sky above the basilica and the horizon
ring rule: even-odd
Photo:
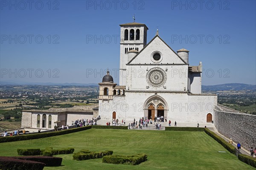
[[[147,42],[158,27],[174,51],[190,51],[190,65],[202,61],[203,85],[256,84],[255,0],[0,0],[1,81],[101,82],[119,68],[119,24],[134,14]]]

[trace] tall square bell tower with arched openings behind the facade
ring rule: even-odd
[[[119,25],[120,28],[120,68],[119,85],[126,85],[126,64],[128,61],[128,51],[136,50],[140,52],[147,44],[148,27],[142,23],[136,23],[135,17],[133,23]]]

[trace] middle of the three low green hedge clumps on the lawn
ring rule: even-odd
[[[81,150],[80,152],[74,153],[73,159],[77,161],[88,160],[88,159],[98,159],[98,158],[102,158],[103,156],[113,154],[112,150],[106,150],[102,152],[90,152],[90,153],[87,153],[87,152],[88,150]]]

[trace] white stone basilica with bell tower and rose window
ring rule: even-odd
[[[202,62],[189,65],[189,51],[175,52],[158,30],[147,43],[145,24],[120,28],[119,85],[109,71],[99,83],[101,118],[212,122],[217,95],[201,93]]]

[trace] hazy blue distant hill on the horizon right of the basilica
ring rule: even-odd
[[[223,85],[202,85],[202,91],[256,91],[256,85],[247,85],[242,83],[228,83]]]

